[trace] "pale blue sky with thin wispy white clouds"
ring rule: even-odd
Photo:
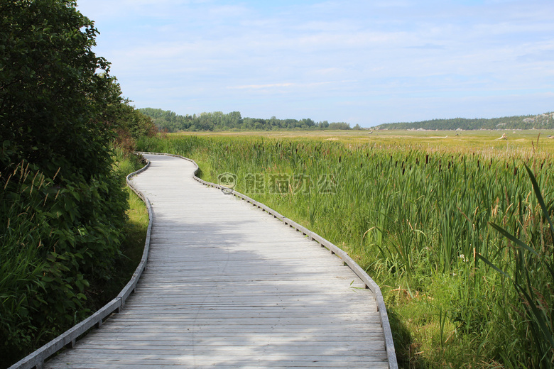
[[[374,126],[554,111],[554,1],[77,0],[138,108]]]

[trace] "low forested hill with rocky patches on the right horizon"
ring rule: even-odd
[[[374,127],[376,129],[440,129],[463,130],[472,129],[554,129],[554,113],[538,116],[505,116],[493,119],[433,119],[430,121],[386,123]]]

